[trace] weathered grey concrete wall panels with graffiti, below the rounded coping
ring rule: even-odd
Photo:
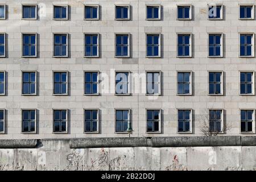
[[[256,147],[71,149],[69,140],[42,140],[37,148],[0,149],[0,170],[256,170]]]

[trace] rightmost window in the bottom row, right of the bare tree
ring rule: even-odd
[[[240,110],[241,133],[254,133],[254,110]]]

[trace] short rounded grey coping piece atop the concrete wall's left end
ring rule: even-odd
[[[37,139],[0,139],[0,148],[36,148]]]

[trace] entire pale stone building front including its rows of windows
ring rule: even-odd
[[[255,3],[1,1],[0,138],[254,135]]]

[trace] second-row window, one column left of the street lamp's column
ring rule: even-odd
[[[98,35],[85,35],[85,57],[98,57]]]

